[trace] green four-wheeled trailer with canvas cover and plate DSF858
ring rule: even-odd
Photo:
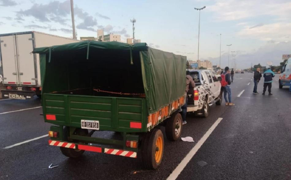
[[[164,137],[158,127],[166,127],[171,141],[182,132],[186,57],[146,43],[96,41],[34,53],[40,54],[44,120],[53,124],[49,145],[72,158],[93,151],[140,156],[149,169],[160,165]],[[93,137],[96,131],[121,138]]]

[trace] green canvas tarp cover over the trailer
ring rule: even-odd
[[[146,43],[130,45],[122,42],[98,41],[83,41],[59,46],[36,48],[33,53],[40,54],[42,93],[55,91],[52,88],[55,86],[53,83],[46,83],[46,79],[51,78],[47,76],[55,75],[54,77],[56,78],[58,73],[66,73],[58,71],[58,63],[61,63],[61,61],[73,61],[72,57],[64,59],[57,58],[58,56],[65,55],[69,57],[70,54],[79,51],[78,54],[81,53],[81,55],[84,56],[84,58],[82,58],[83,61],[88,61],[88,59],[102,61],[102,59],[98,58],[98,55],[94,54],[97,50],[101,53],[102,50],[110,50],[110,53],[120,53],[120,56],[127,54],[128,58],[125,58],[127,60],[125,61],[124,58],[123,60],[124,63],[129,65],[133,65],[133,60],[138,58],[138,61],[140,61],[140,66],[138,68],[141,68],[140,72],[142,74],[142,84],[146,95],[148,114],[156,112],[184,95],[186,87],[186,56],[153,49],[148,47]],[[133,54],[138,54],[138,56],[133,56]],[[50,64],[55,65],[52,66]],[[76,88],[78,86],[72,85],[72,87]],[[72,87],[70,87],[70,89]]]

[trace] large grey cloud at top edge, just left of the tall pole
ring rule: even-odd
[[[32,16],[37,20],[49,22],[49,15],[65,17],[70,14],[70,1],[51,1],[48,4],[34,4],[30,9],[17,12],[17,18]],[[20,20],[20,19],[18,19]]]

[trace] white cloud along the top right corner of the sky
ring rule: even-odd
[[[215,4],[206,7],[206,10],[214,12],[214,17],[218,21],[240,20],[260,15],[271,15],[282,20],[288,20],[291,17],[291,2],[216,0]]]

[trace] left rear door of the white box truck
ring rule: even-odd
[[[14,35],[0,37],[4,84],[19,84],[15,44]]]

